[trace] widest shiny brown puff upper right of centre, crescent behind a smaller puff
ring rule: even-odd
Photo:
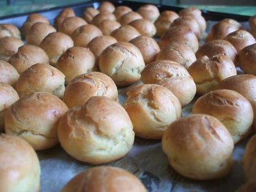
[[[188,26],[174,26],[170,27],[167,32],[161,36],[159,47],[161,50],[166,46],[177,43],[179,45],[186,45],[195,53],[198,51],[198,39],[195,33]]]

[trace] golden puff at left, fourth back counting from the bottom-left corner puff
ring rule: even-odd
[[[49,63],[49,58],[42,48],[35,45],[23,45],[9,59],[9,63],[16,68],[18,73],[22,73],[36,63]]]

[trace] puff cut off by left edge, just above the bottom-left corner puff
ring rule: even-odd
[[[0,132],[4,131],[4,113],[6,109],[18,99],[18,93],[11,85],[0,83]]]

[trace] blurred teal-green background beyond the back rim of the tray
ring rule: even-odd
[[[0,17],[81,2],[85,2],[85,0],[0,0]],[[139,2],[159,3],[156,0],[141,0]],[[247,16],[256,14],[256,0],[163,0],[162,2],[169,6],[188,7],[193,5],[209,11]]]

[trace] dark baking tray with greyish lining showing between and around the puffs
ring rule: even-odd
[[[134,11],[145,3],[131,2],[131,1],[110,1],[115,6],[125,5],[131,7]],[[71,4],[68,6],[55,7],[35,11],[33,13],[40,13],[53,24],[53,19],[65,7],[74,9],[76,16],[81,17],[82,12],[86,7],[99,7],[100,1],[88,1],[84,3]],[[165,10],[179,12],[180,7],[162,6],[156,4],[160,12]],[[29,12],[32,13],[32,12]],[[11,16],[0,17],[0,23],[12,23],[17,27],[21,27],[29,13],[13,14]],[[244,28],[248,28],[249,16],[240,16],[237,14],[225,14],[219,12],[203,11],[209,31],[211,26],[217,21],[224,18],[233,18],[243,24]],[[205,35],[205,34],[204,34]],[[0,45],[1,46],[1,45]],[[240,70],[237,68],[239,73]],[[141,83],[141,82],[137,82]],[[135,84],[137,84],[135,83]],[[126,99],[126,91],[129,87],[119,90],[119,100],[124,102]],[[194,102],[198,97],[183,108],[183,116],[189,115]],[[231,173],[224,179],[211,181],[195,181],[176,173],[171,168],[167,156],[161,149],[160,141],[144,140],[135,137],[135,143],[131,151],[122,159],[112,162],[107,165],[124,168],[131,173],[134,173],[140,178],[142,183],[146,186],[149,192],[234,192],[244,182],[242,171],[242,156],[247,141],[239,142],[235,146],[233,152],[234,166]],[[42,192],[56,192],[60,191],[63,186],[76,174],[92,167],[90,164],[82,163],[73,159],[60,145],[52,149],[37,152],[41,164],[41,191]],[[22,166],[22,165],[21,165]],[[121,191],[120,191],[121,192]]]

